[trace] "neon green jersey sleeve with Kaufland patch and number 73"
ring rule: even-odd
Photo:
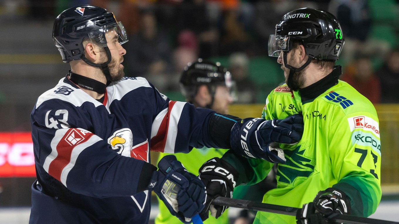
[[[381,200],[381,145],[377,116],[350,114],[330,128],[328,145],[332,173],[338,180],[333,187],[349,196],[352,212],[367,217]]]

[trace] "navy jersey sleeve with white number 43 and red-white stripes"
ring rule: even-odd
[[[69,191],[81,195],[135,195],[142,169],[150,171],[155,167],[118,155],[106,140],[88,130],[90,126],[81,117],[75,106],[57,99],[47,100],[34,109],[32,138],[38,178],[53,183],[56,179],[59,182],[54,185],[62,183]],[[81,128],[73,128],[77,124]]]

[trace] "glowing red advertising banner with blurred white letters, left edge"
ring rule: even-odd
[[[30,132],[0,132],[0,177],[36,177]]]

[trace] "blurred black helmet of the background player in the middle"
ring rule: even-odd
[[[188,63],[180,77],[180,87],[183,95],[188,100],[192,100],[197,94],[198,86],[208,86],[212,99],[215,94],[215,87],[218,85],[227,86],[232,94],[234,82],[231,74],[219,62],[204,61],[199,58],[197,61]],[[212,100],[213,101],[213,100]]]

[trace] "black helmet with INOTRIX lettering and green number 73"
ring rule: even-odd
[[[285,14],[269,38],[269,56],[288,53],[292,41],[304,45],[310,59],[338,60],[344,36],[337,18],[330,12],[300,8]]]

